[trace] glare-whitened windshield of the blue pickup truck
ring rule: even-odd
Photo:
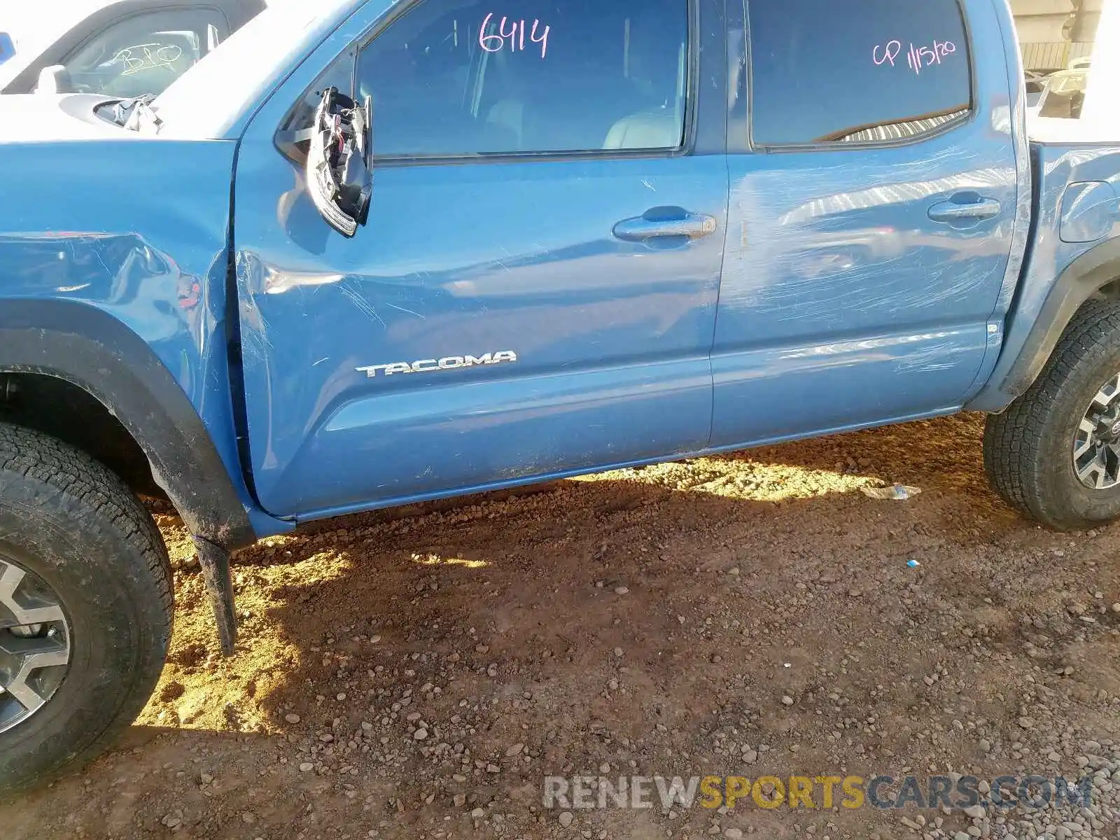
[[[365,0],[271,4],[160,94],[160,134],[221,139],[284,71]]]

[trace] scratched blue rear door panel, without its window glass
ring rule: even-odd
[[[990,4],[965,6],[973,41],[1001,43]],[[1029,169],[1007,59],[972,53],[971,115],[925,138],[766,150],[732,124],[712,446],[945,413],[978,388]]]

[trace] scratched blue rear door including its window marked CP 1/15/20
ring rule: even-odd
[[[747,0],[713,446],[952,411],[998,352],[1009,36],[968,7]]]

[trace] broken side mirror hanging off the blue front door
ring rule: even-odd
[[[353,236],[370,213],[373,150],[370,100],[361,106],[328,87],[315,112],[307,155],[307,189],[324,221]]]

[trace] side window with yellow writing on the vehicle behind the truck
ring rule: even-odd
[[[218,9],[165,9],[118,20],[63,62],[63,86],[110,96],[159,94],[230,31]]]

